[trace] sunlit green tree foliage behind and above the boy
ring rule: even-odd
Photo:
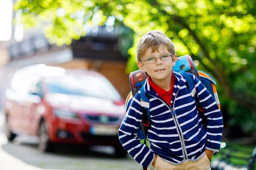
[[[198,69],[217,79],[221,103],[239,117],[235,123],[248,130],[256,127],[255,7],[253,0],[21,0],[15,4],[23,23],[44,23],[49,41],[59,45],[84,36],[86,26],[103,25],[115,17],[115,26],[124,24],[135,32],[128,72],[138,69],[134,56],[140,37],[153,29],[163,31],[178,56],[191,55]]]

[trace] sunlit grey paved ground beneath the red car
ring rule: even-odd
[[[0,170],[142,170],[131,156],[113,157],[112,147],[66,146],[56,153],[41,153],[36,138],[20,136],[8,143],[3,123],[0,113]]]

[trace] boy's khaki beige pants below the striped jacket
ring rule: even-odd
[[[155,170],[211,170],[211,167],[210,161],[206,154],[204,154],[204,156],[202,156],[197,161],[188,161],[186,163],[177,165],[170,164],[161,159],[160,156],[157,156]]]

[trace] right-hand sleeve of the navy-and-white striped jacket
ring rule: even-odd
[[[215,99],[209,93],[203,83],[193,75],[198,100],[204,108],[204,115],[207,116],[207,141],[205,148],[218,152],[221,146],[223,132],[223,119],[221,111]]]

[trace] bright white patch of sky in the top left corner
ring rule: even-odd
[[[0,0],[0,41],[12,36],[12,0]]]

